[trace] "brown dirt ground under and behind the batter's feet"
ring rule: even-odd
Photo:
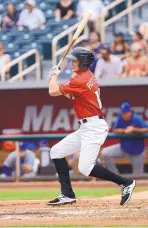
[[[103,183],[103,182],[102,182]],[[144,183],[142,185],[142,183]],[[148,182],[147,182],[148,183]],[[148,186],[138,181],[137,185]],[[9,188],[49,188],[49,183],[9,184]],[[101,182],[74,184],[83,188],[101,186]],[[50,187],[58,183],[50,184]],[[54,187],[53,187],[54,186]],[[105,184],[107,187],[107,183]],[[114,186],[114,185],[113,185]],[[113,187],[108,183],[108,187]],[[6,188],[6,184],[0,184]],[[8,186],[7,186],[8,188]],[[78,199],[76,204],[58,207],[46,206],[47,200],[0,201],[0,226],[10,225],[92,225],[92,226],[142,226],[148,225],[148,192],[134,193],[127,206],[119,206],[120,196]]]

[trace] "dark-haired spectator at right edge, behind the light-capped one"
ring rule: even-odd
[[[143,39],[143,36],[140,32],[134,32],[132,39],[133,44],[139,44],[143,52],[148,54],[148,44]]]

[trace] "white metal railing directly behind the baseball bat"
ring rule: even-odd
[[[68,29],[66,29],[65,31],[63,31],[62,33],[58,34],[57,36],[55,36],[52,40],[52,64],[57,65],[58,62],[58,56],[60,56],[61,54],[64,53],[64,51],[67,48],[67,45],[63,46],[62,48],[58,49],[58,42],[60,39],[64,38],[65,36],[68,36],[68,43],[72,40],[72,36],[74,31],[77,29],[78,25],[80,22],[72,25],[71,27],[69,27]],[[84,33],[79,36],[78,40],[76,41],[76,43],[79,43],[85,39],[88,38],[88,28],[87,26],[84,29]]]

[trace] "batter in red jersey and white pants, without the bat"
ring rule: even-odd
[[[76,202],[65,157],[80,151],[79,171],[85,176],[111,181],[121,186],[120,205],[124,205],[131,198],[135,180],[123,178],[100,164],[96,165],[98,152],[108,134],[108,125],[103,116],[99,85],[89,70],[94,61],[94,55],[89,49],[77,47],[67,57],[71,60],[72,77],[67,83],[59,85],[57,77],[60,70],[57,66],[51,68],[49,94],[50,96],[64,95],[72,100],[80,128],[51,149],[51,159],[59,176],[61,194],[47,204]]]

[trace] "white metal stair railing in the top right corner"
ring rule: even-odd
[[[106,10],[111,10],[120,3],[124,3],[125,0],[115,0],[113,3],[106,6]],[[100,34],[103,42],[106,42],[106,28],[112,23],[118,21],[121,17],[128,15],[128,32],[131,33],[133,31],[133,15],[132,11],[139,8],[140,6],[148,3],[148,0],[140,0],[135,4],[132,4],[132,0],[127,0],[127,8],[112,18],[105,21],[105,17],[102,14],[100,16]]]

